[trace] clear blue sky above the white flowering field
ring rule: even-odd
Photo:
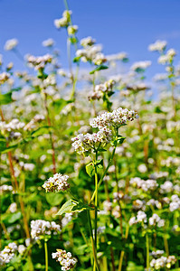
[[[72,21],[79,25],[79,39],[91,35],[103,44],[107,54],[127,51],[131,61],[151,60],[155,73],[162,68],[156,65],[156,53],[147,51],[149,43],[163,39],[180,51],[180,0],[68,2]],[[67,66],[65,31],[57,31],[53,25],[63,10],[62,0],[0,0],[0,53],[5,62],[14,61],[17,69],[22,68],[11,51],[4,51],[6,40],[17,38],[22,54],[43,55],[47,52],[43,40],[53,38],[62,64]]]

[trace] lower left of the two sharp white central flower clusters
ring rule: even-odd
[[[99,129],[98,133],[93,134],[80,134],[71,139],[72,146],[78,154],[90,152],[90,150],[97,149],[104,146],[111,140],[111,131],[107,127]]]

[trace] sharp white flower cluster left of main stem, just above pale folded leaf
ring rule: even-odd
[[[70,188],[69,176],[56,173],[42,185],[46,192],[64,192]]]

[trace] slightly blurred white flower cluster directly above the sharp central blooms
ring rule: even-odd
[[[112,93],[112,87],[114,86],[114,84],[115,81],[109,79],[103,84],[96,85],[94,91],[92,91],[92,93],[90,94],[89,99],[99,99],[103,97],[104,93]]]

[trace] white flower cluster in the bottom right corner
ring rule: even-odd
[[[157,259],[153,258],[150,262],[150,266],[154,268],[154,270],[159,270],[163,267],[166,267],[168,269],[171,268],[171,266],[175,265],[176,259],[175,256],[168,256],[168,257],[159,257]]]

